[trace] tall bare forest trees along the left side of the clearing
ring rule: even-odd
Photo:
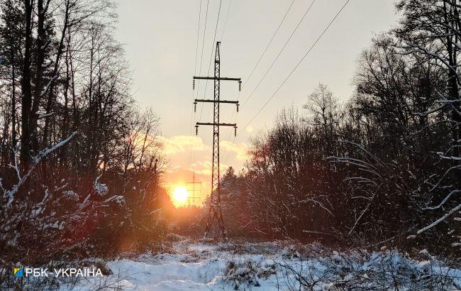
[[[113,10],[0,1],[1,270],[145,249],[166,231],[159,119],[130,95]]]

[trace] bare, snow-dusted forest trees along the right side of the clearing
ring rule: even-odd
[[[401,0],[341,103],[320,84],[223,177],[231,234],[459,251],[461,3]]]

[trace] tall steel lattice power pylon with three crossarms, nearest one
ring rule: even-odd
[[[197,102],[212,102],[214,108],[213,123],[197,122],[195,126],[195,134],[199,133],[199,126],[213,126],[213,166],[211,169],[211,194],[210,194],[210,209],[208,214],[208,221],[206,222],[205,237],[209,235],[213,221],[216,220],[221,234],[226,240],[226,229],[224,229],[223,213],[221,212],[221,192],[219,188],[219,127],[220,126],[233,126],[234,135],[237,135],[237,124],[236,123],[219,123],[219,104],[230,103],[235,104],[238,111],[238,101],[228,101],[219,99],[220,82],[222,81],[237,81],[238,89],[242,81],[240,78],[226,78],[221,77],[220,74],[220,57],[219,57],[219,45],[221,42],[216,43],[216,54],[214,57],[214,77],[196,77],[194,76],[194,89],[195,79],[212,79],[214,80],[214,99],[195,99],[194,111],[196,111]]]

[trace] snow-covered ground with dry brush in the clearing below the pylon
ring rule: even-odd
[[[427,251],[417,257],[385,248],[338,253],[316,244],[182,240],[169,253],[113,260],[108,263],[113,275],[81,282],[73,290],[461,289],[459,268],[449,268]]]

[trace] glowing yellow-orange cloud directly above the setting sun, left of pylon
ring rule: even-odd
[[[198,136],[172,136],[170,138],[160,136],[159,140],[163,143],[163,153],[165,155],[185,153],[191,148],[196,151],[206,150],[207,148],[204,141]]]

